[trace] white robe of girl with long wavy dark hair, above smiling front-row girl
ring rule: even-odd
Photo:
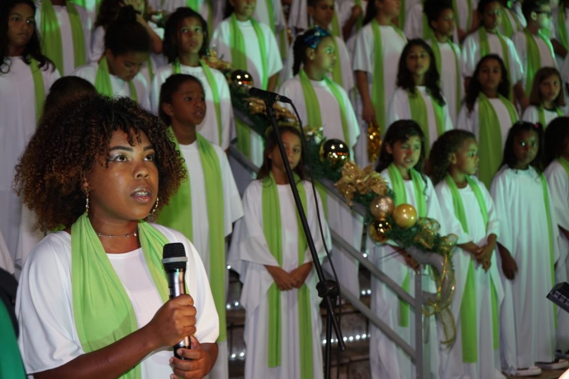
[[[436,118],[435,109],[433,108],[432,97],[427,93],[425,86],[415,87],[417,93],[423,97],[425,106],[427,108],[427,119],[428,125],[421,125],[422,128],[426,128],[429,131],[428,140],[431,143],[435,143],[436,139],[439,138],[439,131],[436,128]],[[445,98],[446,101],[446,98]],[[444,119],[443,119],[443,129],[444,131],[454,129],[452,125],[452,120],[450,114],[448,113],[448,105],[443,105]],[[402,88],[397,88],[391,97],[391,102],[389,103],[389,108],[387,109],[387,125],[391,125],[393,122],[398,120],[411,120],[411,107],[409,103],[409,94]],[[429,150],[427,148],[427,150]]]

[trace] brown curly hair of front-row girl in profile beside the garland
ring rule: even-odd
[[[429,155],[433,184],[436,185],[444,179],[448,169],[451,167],[451,163],[448,160],[450,154],[456,153],[464,141],[469,138],[476,140],[475,135],[467,130],[453,129],[445,132],[435,141]]]

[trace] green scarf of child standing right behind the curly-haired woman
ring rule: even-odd
[[[180,144],[171,127],[168,128],[168,136],[176,144],[176,150],[181,155]],[[217,340],[225,341],[227,333],[225,325],[225,221],[221,166],[212,144],[199,133],[196,133],[196,141],[201,167],[204,171],[205,200],[209,224],[209,278],[211,278],[209,284],[219,315],[219,337]],[[186,162],[184,162],[184,169],[188,172]],[[197,191],[204,190],[200,188]],[[192,189],[189,174],[188,180],[181,184],[178,192],[170,198],[168,205],[160,212],[158,222],[179,230],[188,240],[193,240]]]

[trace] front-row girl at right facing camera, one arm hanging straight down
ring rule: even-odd
[[[555,284],[559,258],[554,204],[542,174],[543,150],[541,124],[514,123],[490,187],[500,223],[502,369],[516,376],[538,375],[539,366],[567,366],[567,361],[555,361],[555,306],[543,295]]]

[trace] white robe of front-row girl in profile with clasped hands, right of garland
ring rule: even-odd
[[[484,246],[488,243],[490,234],[498,235],[498,216],[494,209],[494,201],[490,196],[486,186],[476,177],[472,179],[477,182],[480,191],[484,197],[486,211],[488,212],[488,225],[484,224],[484,219],[480,210],[476,195],[471,186],[459,188],[459,195],[464,206],[464,213],[467,216],[468,233],[464,231],[460,220],[455,216],[455,208],[453,205],[452,193],[445,180],[442,180],[435,187],[436,194],[439,199],[441,211],[449,219],[454,219],[452,232],[459,239],[457,244],[465,244],[474,242],[478,246]],[[477,362],[463,362],[462,337],[460,306],[464,295],[464,287],[467,280],[470,262],[473,261],[475,267],[475,296],[476,296],[476,331],[477,331]],[[452,265],[455,270],[455,292],[453,294],[451,311],[456,322],[456,340],[450,349],[445,347],[441,350],[441,378],[504,378],[500,373],[500,359],[498,349],[494,351],[493,345],[493,323],[492,323],[492,293],[496,291],[497,306],[500,310],[500,304],[504,299],[504,290],[498,266],[496,264],[496,256],[493,254],[491,258],[491,266],[486,273],[482,266],[474,261],[473,255],[466,250],[456,246],[452,255]],[[492,287],[492,281],[494,287]],[[498,319],[499,320],[499,319]],[[469,326],[465,326],[469,327]]]

